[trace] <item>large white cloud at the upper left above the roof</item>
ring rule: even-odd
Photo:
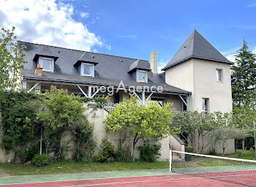
[[[71,4],[55,0],[0,0],[0,4],[0,26],[15,26],[20,40],[88,51],[103,45],[86,25],[72,18]]]

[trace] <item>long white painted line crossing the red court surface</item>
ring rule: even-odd
[[[198,177],[198,178],[173,178],[173,179],[159,179],[159,180],[138,180],[138,181],[128,181],[120,183],[97,183],[97,184],[85,184],[76,186],[61,186],[61,187],[80,187],[80,186],[102,186],[102,185],[114,185],[114,184],[125,184],[125,183],[145,183],[145,182],[157,182],[157,181],[168,181],[168,180],[190,180],[190,179],[202,179],[202,178],[226,178],[226,177],[237,177],[237,176],[249,176],[256,174],[244,174],[244,175],[220,175],[213,177]],[[228,181],[227,181],[228,182]]]

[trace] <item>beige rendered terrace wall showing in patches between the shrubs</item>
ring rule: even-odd
[[[87,107],[88,104],[89,103],[84,103],[83,105],[84,107]],[[115,148],[117,148],[120,140],[124,139],[124,137],[121,137],[121,134],[118,134],[118,132],[106,132],[104,120],[106,116],[109,115],[109,112],[104,109],[89,107],[89,110],[86,111],[86,115],[88,115],[89,121],[94,124],[94,141],[97,144],[97,147],[94,149],[94,155],[97,155],[97,153],[101,151],[102,138],[105,137],[106,134],[108,135],[108,140],[112,142],[113,145],[115,145]],[[2,134],[3,129],[0,126],[0,142]],[[69,147],[67,150],[66,159],[72,159],[72,154],[74,153],[75,142],[73,141],[73,136],[74,135],[71,131],[64,131],[61,136],[61,144],[67,145]],[[128,148],[132,153],[132,139],[127,138],[122,143],[122,147]],[[160,143],[162,144],[162,148],[161,156],[158,160],[166,161],[169,159],[169,138],[167,137],[166,139],[161,140]],[[138,147],[142,144],[143,141],[139,140],[136,146]],[[49,153],[49,155],[53,156],[53,153]],[[140,158],[140,152],[137,148],[135,149],[135,158]],[[14,159],[14,151],[11,151],[9,154],[7,154],[3,149],[0,148],[0,162],[7,162],[8,160],[13,161]]]

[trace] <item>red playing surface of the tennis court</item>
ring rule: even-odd
[[[211,172],[189,175],[156,175],[129,178],[69,180],[0,185],[13,187],[80,187],[80,186],[256,186],[256,170]]]

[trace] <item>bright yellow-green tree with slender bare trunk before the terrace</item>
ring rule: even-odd
[[[105,120],[105,129],[111,131],[128,131],[132,137],[132,157],[135,161],[135,147],[138,140],[162,139],[179,132],[179,127],[172,126],[174,111],[172,104],[159,107],[157,102],[138,103],[132,96],[116,104],[116,109],[110,111]]]

